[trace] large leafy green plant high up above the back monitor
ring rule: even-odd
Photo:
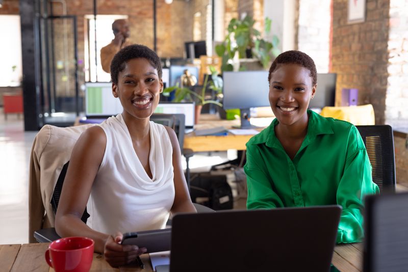
[[[233,59],[238,52],[240,59],[253,58],[259,60],[264,69],[267,69],[273,56],[279,54],[278,38],[274,35],[269,42],[262,38],[261,32],[253,28],[254,20],[246,16],[243,20],[233,18],[228,24],[228,34],[222,44],[215,47],[219,57],[222,57],[222,71],[233,71]],[[265,33],[271,30],[272,20],[265,18]],[[244,69],[239,67],[240,70]]]

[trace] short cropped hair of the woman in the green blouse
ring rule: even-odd
[[[271,67],[269,68],[268,82],[271,81],[272,73],[276,70],[278,64],[298,64],[308,69],[309,75],[312,77],[312,85],[317,84],[317,70],[315,62],[309,55],[301,51],[290,50],[279,54],[273,61]]]

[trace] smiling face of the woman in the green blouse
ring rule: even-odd
[[[279,124],[307,124],[308,106],[315,95],[309,69],[298,64],[278,64],[269,82],[269,103]]]

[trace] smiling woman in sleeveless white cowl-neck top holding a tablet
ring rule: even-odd
[[[163,91],[159,57],[146,46],[127,46],[112,60],[111,77],[123,112],[90,127],[75,144],[55,226],[61,236],[92,238],[95,252],[119,266],[146,251],[122,246],[122,232],[163,228],[169,212],[195,208],[175,132],[149,121]]]

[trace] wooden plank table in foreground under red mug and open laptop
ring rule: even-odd
[[[44,258],[48,244],[0,244],[0,271],[54,271]],[[362,243],[341,244],[336,246],[331,262],[340,271],[362,271],[362,252]],[[102,255],[94,253],[91,271],[152,271],[149,256],[144,254],[141,259],[145,265],[144,269],[140,269],[136,264],[113,268]]]

